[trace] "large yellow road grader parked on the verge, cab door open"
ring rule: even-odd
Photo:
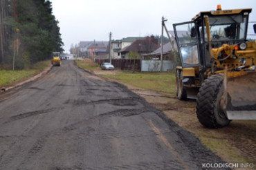
[[[197,118],[208,128],[256,120],[256,41],[246,39],[251,11],[218,5],[173,25],[181,59],[176,95],[196,98]]]

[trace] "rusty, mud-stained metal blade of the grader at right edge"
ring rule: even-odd
[[[229,120],[256,120],[255,72],[228,73],[224,76],[224,95]]]

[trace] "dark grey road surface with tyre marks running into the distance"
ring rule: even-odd
[[[0,95],[0,169],[202,169],[223,162],[125,86],[64,61]]]

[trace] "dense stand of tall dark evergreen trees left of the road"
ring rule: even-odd
[[[48,0],[1,0],[8,2],[8,16],[0,22],[0,28],[10,28],[8,55],[2,55],[0,62],[11,64],[15,58],[15,67],[24,68],[30,63],[51,58],[53,51],[62,52],[63,42],[58,21],[53,15],[51,2]],[[1,16],[0,16],[1,18]],[[1,37],[3,31],[0,29]],[[6,36],[6,35],[5,35]],[[0,39],[0,46],[1,46]],[[1,48],[2,49],[2,48]]]

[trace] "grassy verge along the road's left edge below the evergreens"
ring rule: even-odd
[[[0,86],[5,86],[39,73],[49,66],[49,64],[51,64],[51,61],[47,60],[34,64],[29,70],[0,70]]]

